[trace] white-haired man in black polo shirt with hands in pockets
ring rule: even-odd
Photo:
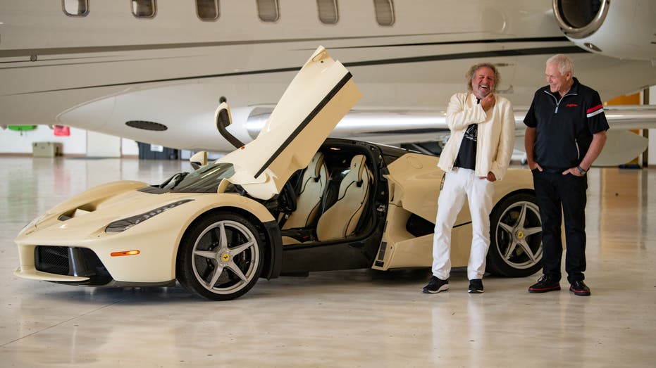
[[[586,172],[599,156],[608,122],[599,94],[573,76],[574,63],[562,54],[547,60],[548,86],[536,91],[526,124],[526,158],[540,205],[543,277],[530,293],[560,290],[561,214],[564,215],[569,290],[589,296],[586,270]]]

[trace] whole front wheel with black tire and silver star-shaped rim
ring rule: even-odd
[[[215,212],[182,236],[175,276],[197,296],[231,300],[252,288],[264,264],[256,227],[240,215]]]

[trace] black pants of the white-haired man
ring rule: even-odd
[[[564,171],[564,170],[563,170]],[[585,279],[586,271],[586,203],[588,176],[576,177],[562,172],[533,170],[540,217],[542,217],[543,273],[559,280],[562,259],[561,223],[564,216],[565,271],[567,281]]]

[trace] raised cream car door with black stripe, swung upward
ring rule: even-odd
[[[231,163],[228,179],[268,199],[306,167],[335,125],[359,101],[351,73],[320,46],[292,80],[259,135],[216,162]]]

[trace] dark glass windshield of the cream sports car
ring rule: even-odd
[[[216,193],[221,180],[235,175],[235,167],[231,163],[211,163],[190,172],[184,179],[172,180],[163,189],[170,191]],[[177,184],[176,184],[177,182]]]

